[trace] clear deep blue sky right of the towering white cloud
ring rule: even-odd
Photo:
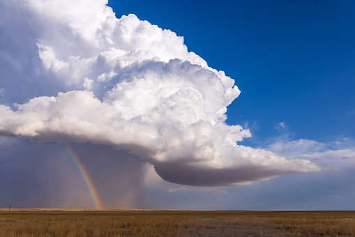
[[[294,139],[329,142],[355,134],[353,1],[111,0],[185,38],[188,50],[236,80],[229,124],[248,124],[264,145],[280,122]]]

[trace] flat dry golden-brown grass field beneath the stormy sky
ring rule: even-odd
[[[0,236],[355,236],[355,211],[0,209]]]

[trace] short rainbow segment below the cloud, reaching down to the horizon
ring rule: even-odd
[[[77,166],[77,169],[79,170],[80,175],[84,179],[84,182],[91,194],[91,198],[93,199],[96,209],[103,209],[103,202],[100,199],[100,196],[98,194],[98,190],[96,189],[95,185],[93,185],[93,181],[91,180],[91,178],[89,176],[89,172],[85,169],[84,165],[82,164],[82,161],[80,160],[79,155],[77,155],[77,153],[75,153],[73,148],[68,146],[68,144],[64,144],[64,147],[66,148],[66,151],[70,155],[70,158],[72,158],[73,162]]]

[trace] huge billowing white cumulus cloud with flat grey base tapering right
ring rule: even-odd
[[[0,105],[1,135],[109,145],[184,185],[319,170],[237,145],[251,134],[225,123],[240,93],[234,79],[188,52],[183,37],[135,15],[117,19],[106,4],[0,1],[1,62],[9,66],[0,87],[15,102]]]

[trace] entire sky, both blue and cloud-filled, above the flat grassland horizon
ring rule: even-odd
[[[355,3],[108,6],[0,0],[1,208],[355,209]]]

